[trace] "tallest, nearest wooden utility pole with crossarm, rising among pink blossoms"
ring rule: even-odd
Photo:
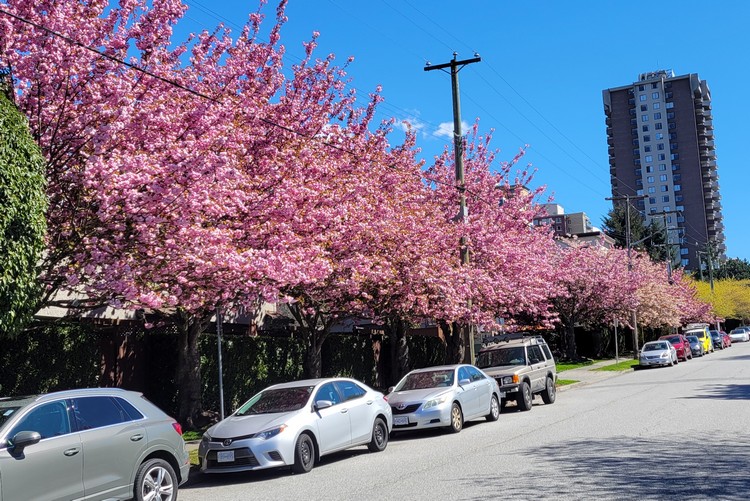
[[[466,208],[466,185],[464,183],[464,143],[463,134],[461,133],[461,99],[458,91],[458,72],[471,63],[478,63],[482,60],[479,54],[474,54],[471,59],[464,59],[457,61],[457,52],[453,53],[453,59],[450,62],[431,65],[427,63],[424,67],[425,71],[432,70],[445,70],[450,68],[451,76],[451,89],[453,91],[453,152],[455,155],[456,164],[456,189],[458,190],[458,215],[456,220],[463,222],[468,216]],[[448,73],[448,71],[446,71]],[[461,252],[461,265],[469,264],[469,247],[466,241],[466,236],[462,235],[459,241],[460,252]],[[474,363],[474,332],[472,326],[468,325],[464,329],[464,361],[470,364]]]

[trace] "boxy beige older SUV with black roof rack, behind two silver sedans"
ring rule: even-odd
[[[545,404],[555,402],[557,367],[542,336],[497,336],[479,351],[476,366],[495,378],[500,391],[505,392],[502,407],[515,401],[519,409],[527,411],[537,394]]]

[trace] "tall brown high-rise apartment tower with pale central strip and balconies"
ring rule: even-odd
[[[632,200],[646,224],[666,228],[687,269],[726,252],[711,92],[698,75],[642,73],[603,91],[613,197]],[[710,247],[709,247],[710,245]],[[679,250],[677,250],[679,249]],[[673,251],[674,252],[674,251]],[[705,264],[704,264],[705,266]]]

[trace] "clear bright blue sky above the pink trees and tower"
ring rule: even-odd
[[[183,0],[180,32],[233,31],[257,1]],[[272,22],[276,3],[263,12]],[[566,212],[586,212],[594,225],[611,207],[602,90],[628,85],[639,73],[698,73],[712,93],[727,256],[750,259],[744,216],[748,181],[745,119],[750,117],[750,2],[725,0],[511,1],[290,0],[282,31],[289,63],[320,32],[318,56],[349,56],[351,85],[363,102],[377,85],[380,118],[409,120],[428,161],[451,143],[450,76],[425,72],[478,52],[460,73],[463,122],[495,130],[493,145],[510,160],[525,144],[523,163],[534,186]],[[450,124],[450,125],[449,125]]]

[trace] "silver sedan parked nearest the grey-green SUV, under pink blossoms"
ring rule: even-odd
[[[276,384],[203,434],[204,473],[291,466],[309,472],[324,455],[367,445],[385,450],[393,426],[385,396],[349,378]]]

